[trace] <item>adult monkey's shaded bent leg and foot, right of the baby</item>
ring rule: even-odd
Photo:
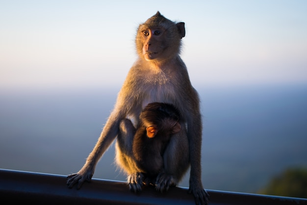
[[[159,173],[156,178],[155,189],[159,192],[167,191],[170,186],[176,186],[189,167],[189,142],[185,128],[171,137],[163,160],[164,172]]]

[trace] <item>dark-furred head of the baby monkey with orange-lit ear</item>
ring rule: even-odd
[[[140,114],[140,120],[146,127],[147,137],[153,138],[158,132],[169,136],[180,131],[179,111],[171,104],[150,103]]]

